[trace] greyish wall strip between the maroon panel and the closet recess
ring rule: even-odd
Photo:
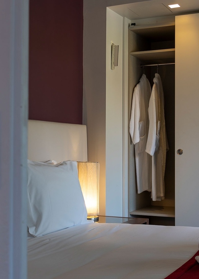
[[[109,197],[106,202],[106,175],[109,171],[106,169],[106,8],[133,2],[142,0],[84,0],[83,124],[87,126],[88,160],[100,164],[101,215],[106,213],[109,202]],[[114,175],[108,179],[114,179]]]

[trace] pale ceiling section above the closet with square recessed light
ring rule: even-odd
[[[171,9],[168,5],[179,4]],[[149,0],[109,7],[117,14],[130,20],[199,12],[199,0]]]

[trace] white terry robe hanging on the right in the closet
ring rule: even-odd
[[[166,165],[166,137],[164,116],[164,92],[161,77],[158,73],[153,79],[151,98],[149,101],[149,131],[146,152],[152,156],[152,190],[153,201],[161,201],[165,196],[164,175]]]

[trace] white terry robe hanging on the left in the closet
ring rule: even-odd
[[[135,144],[135,167],[138,193],[151,191],[151,156],[145,152],[148,137],[148,103],[151,85],[143,74],[134,89],[130,116],[130,135]]]

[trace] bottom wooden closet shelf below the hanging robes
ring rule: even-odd
[[[130,212],[131,215],[146,215],[160,217],[175,217],[173,206],[147,206]]]

